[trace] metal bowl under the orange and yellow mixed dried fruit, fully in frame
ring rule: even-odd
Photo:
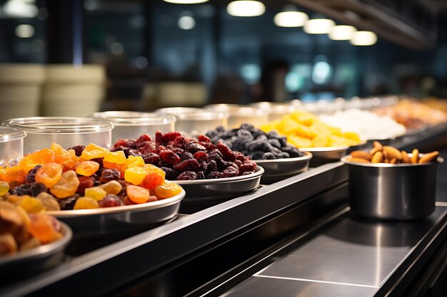
[[[149,229],[179,214],[185,191],[174,197],[143,204],[99,209],[76,209],[47,212],[65,222],[74,232],[74,239]]]

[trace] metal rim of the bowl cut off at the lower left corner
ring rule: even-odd
[[[59,251],[59,249],[63,249],[67,244],[69,244],[69,241],[71,241],[71,238],[73,237],[73,232],[71,231],[69,225],[60,221],[59,223],[61,224],[63,234],[61,239],[53,241],[49,244],[36,246],[35,248],[26,251],[17,251],[16,254],[8,254],[0,256],[0,266],[1,264],[9,264],[9,262],[13,261],[31,259],[36,256],[39,257],[46,256],[55,251]]]

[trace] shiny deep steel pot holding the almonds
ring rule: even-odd
[[[443,162],[441,157],[426,164],[369,164],[347,158],[341,161],[348,165],[349,203],[354,213],[408,220],[427,217],[435,209],[436,167]]]

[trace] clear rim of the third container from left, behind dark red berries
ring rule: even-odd
[[[169,125],[176,122],[176,117],[166,113],[141,113],[139,111],[104,111],[94,113],[92,118],[104,118],[115,126]]]

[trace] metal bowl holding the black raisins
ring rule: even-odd
[[[308,170],[312,158],[311,152],[303,152],[303,157],[276,159],[276,160],[253,160],[264,169],[261,182],[291,177],[295,174]]]

